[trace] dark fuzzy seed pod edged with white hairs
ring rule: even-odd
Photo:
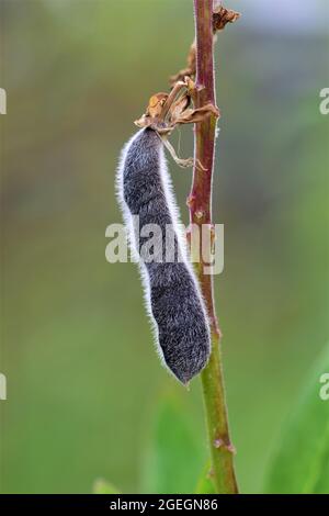
[[[163,144],[154,130],[143,128],[125,145],[117,171],[117,197],[139,263],[159,355],[185,384],[207,363],[211,333],[185,248]],[[134,224],[136,220],[139,227]],[[155,239],[154,260],[149,261],[143,253],[148,242],[145,228],[154,226],[160,234]],[[167,260],[168,253],[172,261]]]

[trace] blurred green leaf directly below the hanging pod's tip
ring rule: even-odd
[[[157,405],[144,453],[143,493],[193,493],[195,489],[205,449],[202,433],[183,400],[164,394]]]

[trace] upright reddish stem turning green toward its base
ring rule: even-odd
[[[216,105],[213,55],[213,0],[194,0],[196,32],[196,108],[208,102]],[[216,116],[211,115],[194,128],[194,162],[201,162],[206,171],[195,166],[190,194],[190,223],[212,224],[212,179],[214,168]],[[193,227],[193,226],[192,226]],[[211,245],[208,246],[211,255]],[[211,260],[208,260],[211,261]],[[196,273],[207,306],[212,329],[212,354],[203,370],[202,386],[206,412],[208,440],[212,456],[212,473],[217,493],[238,493],[234,471],[234,447],[230,442],[225,401],[220,357],[220,332],[215,314],[213,277],[204,273],[206,260],[201,253]]]

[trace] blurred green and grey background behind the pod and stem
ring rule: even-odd
[[[216,47],[216,296],[243,492],[263,490],[329,335],[328,4],[313,4],[311,23],[298,10],[281,23],[282,2],[261,3],[227,2],[243,16]],[[160,367],[136,267],[104,256],[105,228],[121,221],[121,147],[184,66],[192,1],[0,0],[0,490],[83,493],[101,476],[123,492],[157,491],[159,463],[168,489],[192,490],[207,456],[198,380],[185,392]],[[181,133],[190,156],[192,130]],[[169,160],[186,222],[191,172]],[[189,479],[166,462],[166,411],[195,449],[181,457]]]

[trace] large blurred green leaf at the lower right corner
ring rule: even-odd
[[[329,492],[329,400],[320,396],[321,390],[329,393],[328,379],[327,384],[324,383],[325,373],[329,373],[329,347],[310,374],[299,403],[292,407],[269,474],[266,492]]]

